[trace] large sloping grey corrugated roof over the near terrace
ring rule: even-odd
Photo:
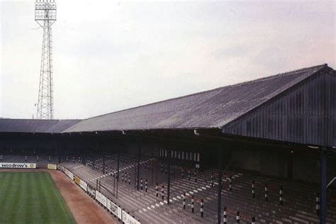
[[[221,128],[325,65],[298,69],[83,120],[64,132]]]

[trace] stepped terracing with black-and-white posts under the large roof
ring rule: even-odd
[[[148,157],[140,159],[139,183],[142,179],[142,187],[140,184],[137,191],[135,183],[138,161],[134,157],[121,155],[119,181],[116,181],[116,155],[105,159],[104,174],[103,159],[96,159],[94,167],[92,167],[92,161],[88,160],[86,165],[83,165],[77,160],[62,164],[94,188],[100,186],[102,194],[113,198],[113,201],[142,223],[215,223],[217,220],[218,176],[215,169],[199,171],[191,167],[181,167],[180,164],[172,165],[170,205],[167,205],[167,166],[164,161]],[[145,191],[146,179],[147,192]],[[252,217],[257,219],[257,223],[318,223],[315,210],[316,194],[319,191],[317,184],[264,177],[235,169],[226,170],[222,180],[222,208],[227,208],[228,223],[236,222],[237,212],[240,212],[240,223],[251,223]],[[100,184],[97,184],[97,181]],[[253,181],[254,198],[252,197]],[[159,186],[158,196],[155,191],[156,183]],[[266,184],[267,202],[264,196]],[[162,186],[164,187],[163,200]],[[283,205],[279,201],[281,187]],[[183,208],[184,193],[186,193],[185,209]],[[336,220],[335,195],[335,189],[330,189],[328,223],[335,223]],[[192,196],[194,196],[194,213],[191,212]],[[203,217],[200,212],[201,199],[204,201]]]

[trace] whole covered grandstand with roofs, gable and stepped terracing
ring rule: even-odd
[[[336,223],[335,99],[318,65],[85,120],[0,119],[0,155],[60,164],[124,223]]]

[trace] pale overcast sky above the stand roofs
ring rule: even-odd
[[[0,117],[31,118],[43,30],[35,1],[0,1]],[[336,69],[336,1],[56,2],[55,118],[323,63]]]

